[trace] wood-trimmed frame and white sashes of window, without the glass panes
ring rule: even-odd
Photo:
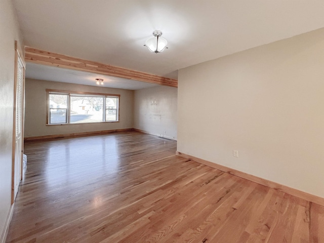
[[[57,108],[51,108],[50,107],[50,95],[56,94],[56,95],[67,95],[67,101],[66,101],[66,121],[65,123],[50,123],[51,122],[51,115],[50,110],[51,109],[57,109]],[[102,114],[102,121],[93,121],[88,123],[71,123],[70,122],[70,111],[71,111],[71,97],[73,96],[89,96],[89,97],[102,97],[103,99],[103,114]],[[117,107],[116,107],[116,120],[107,120],[106,118],[106,99],[107,98],[117,98]],[[67,90],[53,90],[53,89],[46,89],[46,125],[47,126],[55,126],[55,125],[80,125],[80,124],[98,124],[98,123],[118,123],[120,121],[119,119],[119,105],[120,105],[120,95],[118,94],[106,94],[106,93],[92,93],[92,92],[80,92],[80,91],[67,91]],[[59,108],[61,109],[61,108]]]

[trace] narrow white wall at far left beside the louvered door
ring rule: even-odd
[[[0,242],[11,207],[15,41],[22,38],[11,1],[0,0]],[[23,53],[20,52],[23,57]]]

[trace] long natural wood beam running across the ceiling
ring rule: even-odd
[[[157,85],[178,87],[178,80],[176,79],[161,77],[121,67],[115,67],[75,57],[69,57],[57,53],[38,50],[31,47],[25,47],[25,61],[47,66],[69,68],[114,77],[128,78]]]

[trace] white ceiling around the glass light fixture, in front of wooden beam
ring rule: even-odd
[[[26,46],[176,79],[180,68],[324,27],[323,0],[13,2]],[[169,47],[159,54],[143,46],[155,29]]]

